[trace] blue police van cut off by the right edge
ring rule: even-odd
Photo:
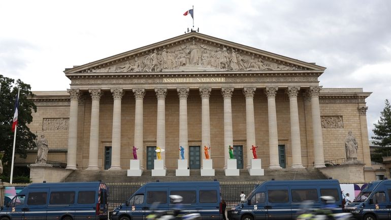
[[[369,183],[345,210],[360,220],[391,219],[391,180]]]

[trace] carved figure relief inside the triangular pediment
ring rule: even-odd
[[[296,66],[281,64],[248,55],[235,48],[214,47],[192,41],[172,48],[154,49],[147,55],[136,56],[109,67],[88,69],[86,72],[160,72],[183,67],[202,67],[215,70],[297,70]]]

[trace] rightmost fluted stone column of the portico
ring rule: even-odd
[[[314,138],[314,166],[324,166],[323,155],[323,137],[322,125],[320,122],[320,107],[319,107],[319,93],[322,86],[310,86],[309,94],[311,97],[311,112],[312,112],[312,133]]]

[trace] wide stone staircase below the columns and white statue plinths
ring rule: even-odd
[[[201,170],[190,170],[190,176],[175,176],[175,170],[167,170],[166,176],[151,176],[146,170],[142,176],[127,176],[126,170],[75,170],[66,182],[154,182],[159,181],[213,181],[220,182],[262,182],[266,180],[328,179],[318,169],[265,169],[264,176],[250,176],[248,171],[240,170],[240,176],[225,176],[223,170],[215,170],[215,176],[201,176]]]

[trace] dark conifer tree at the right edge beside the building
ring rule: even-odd
[[[383,162],[382,156],[389,156],[391,149],[391,106],[388,100],[385,100],[385,107],[380,115],[380,120],[374,124],[375,128],[372,130],[375,136],[372,136],[375,145],[381,146],[381,149],[375,150],[376,154],[372,156],[372,161]]]

